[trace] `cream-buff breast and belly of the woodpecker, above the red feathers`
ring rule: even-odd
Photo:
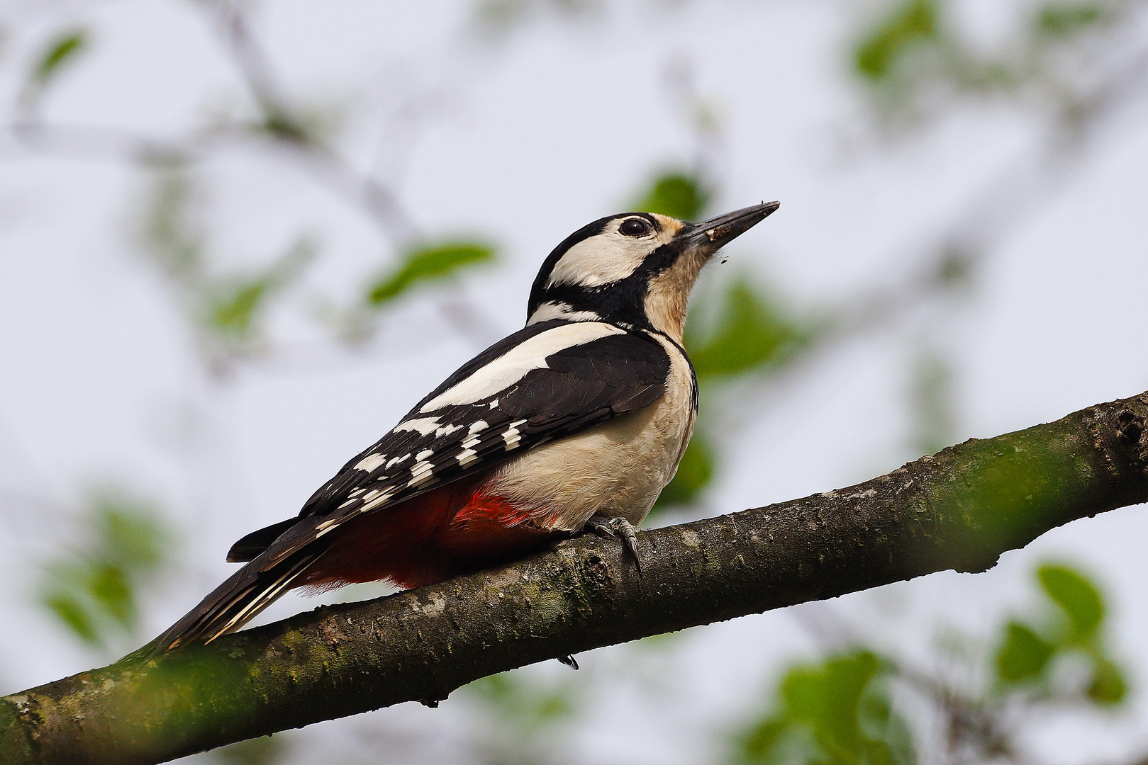
[[[661,398],[526,452],[496,470],[487,491],[533,509],[532,520],[548,529],[577,531],[596,513],[641,523],[677,471],[696,414],[689,362],[673,343],[652,337],[670,358]]]

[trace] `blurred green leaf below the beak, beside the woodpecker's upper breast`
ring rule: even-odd
[[[716,328],[705,337],[688,330],[685,346],[698,377],[705,378],[778,364],[807,339],[807,333],[740,278],[722,297]]]

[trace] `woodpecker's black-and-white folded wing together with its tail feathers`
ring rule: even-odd
[[[348,462],[300,517],[236,542],[232,559],[250,554],[250,563],[160,635],[154,650],[241,627],[323,555],[324,537],[347,521],[649,406],[668,375],[669,356],[657,341],[612,325],[550,321],[511,335]]]

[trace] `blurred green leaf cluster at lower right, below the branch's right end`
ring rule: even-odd
[[[1127,694],[1124,672],[1103,642],[1104,600],[1100,590],[1079,571],[1045,563],[1037,569],[1045,602],[1045,618],[1037,625],[1011,619],[996,648],[998,693],[1016,686],[1050,688],[1057,661],[1083,655],[1092,665],[1086,700],[1102,707],[1119,704]]]

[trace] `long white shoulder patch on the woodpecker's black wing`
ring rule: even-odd
[[[470,377],[464,378],[453,388],[450,388],[422,405],[419,412],[434,412],[444,406],[458,406],[461,404],[474,404],[487,396],[492,396],[513,385],[526,376],[532,369],[545,369],[546,357],[557,353],[563,349],[574,345],[584,345],[607,335],[626,334],[625,329],[607,323],[585,321],[576,325],[565,325],[548,329],[535,335],[521,345],[518,345],[490,364],[476,369]],[[490,403],[491,408],[497,406],[497,401]],[[425,417],[422,420],[408,420],[400,428],[418,429],[417,422],[434,422],[427,427],[424,435],[435,429],[439,417]],[[408,428],[408,429],[410,429]]]

